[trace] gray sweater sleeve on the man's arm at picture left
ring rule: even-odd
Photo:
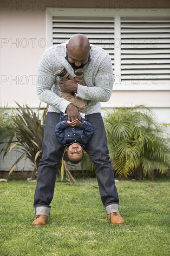
[[[52,92],[52,86],[55,81],[55,76],[52,68],[52,63],[49,60],[47,53],[45,52],[38,66],[36,88],[37,95],[40,101],[44,101],[47,104],[58,108],[65,113],[65,109],[70,104],[69,101],[62,99],[57,94]]]

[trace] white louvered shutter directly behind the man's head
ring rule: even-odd
[[[102,47],[111,56],[114,68],[114,18],[110,17],[52,17],[53,44],[70,39],[73,34],[84,34],[91,44]]]

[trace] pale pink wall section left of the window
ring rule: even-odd
[[[37,106],[37,66],[46,49],[46,12],[42,10],[1,10],[1,105],[14,101]],[[14,43],[16,42],[16,43]],[[17,81],[14,81],[17,80]]]

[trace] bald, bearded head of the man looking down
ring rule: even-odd
[[[90,42],[83,34],[74,34],[68,44],[67,58],[73,68],[84,67],[90,57]]]

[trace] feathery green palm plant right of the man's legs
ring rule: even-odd
[[[136,106],[108,112],[105,129],[111,162],[119,177],[127,178],[135,171],[153,177],[154,169],[163,174],[170,168],[168,135],[148,108]]]

